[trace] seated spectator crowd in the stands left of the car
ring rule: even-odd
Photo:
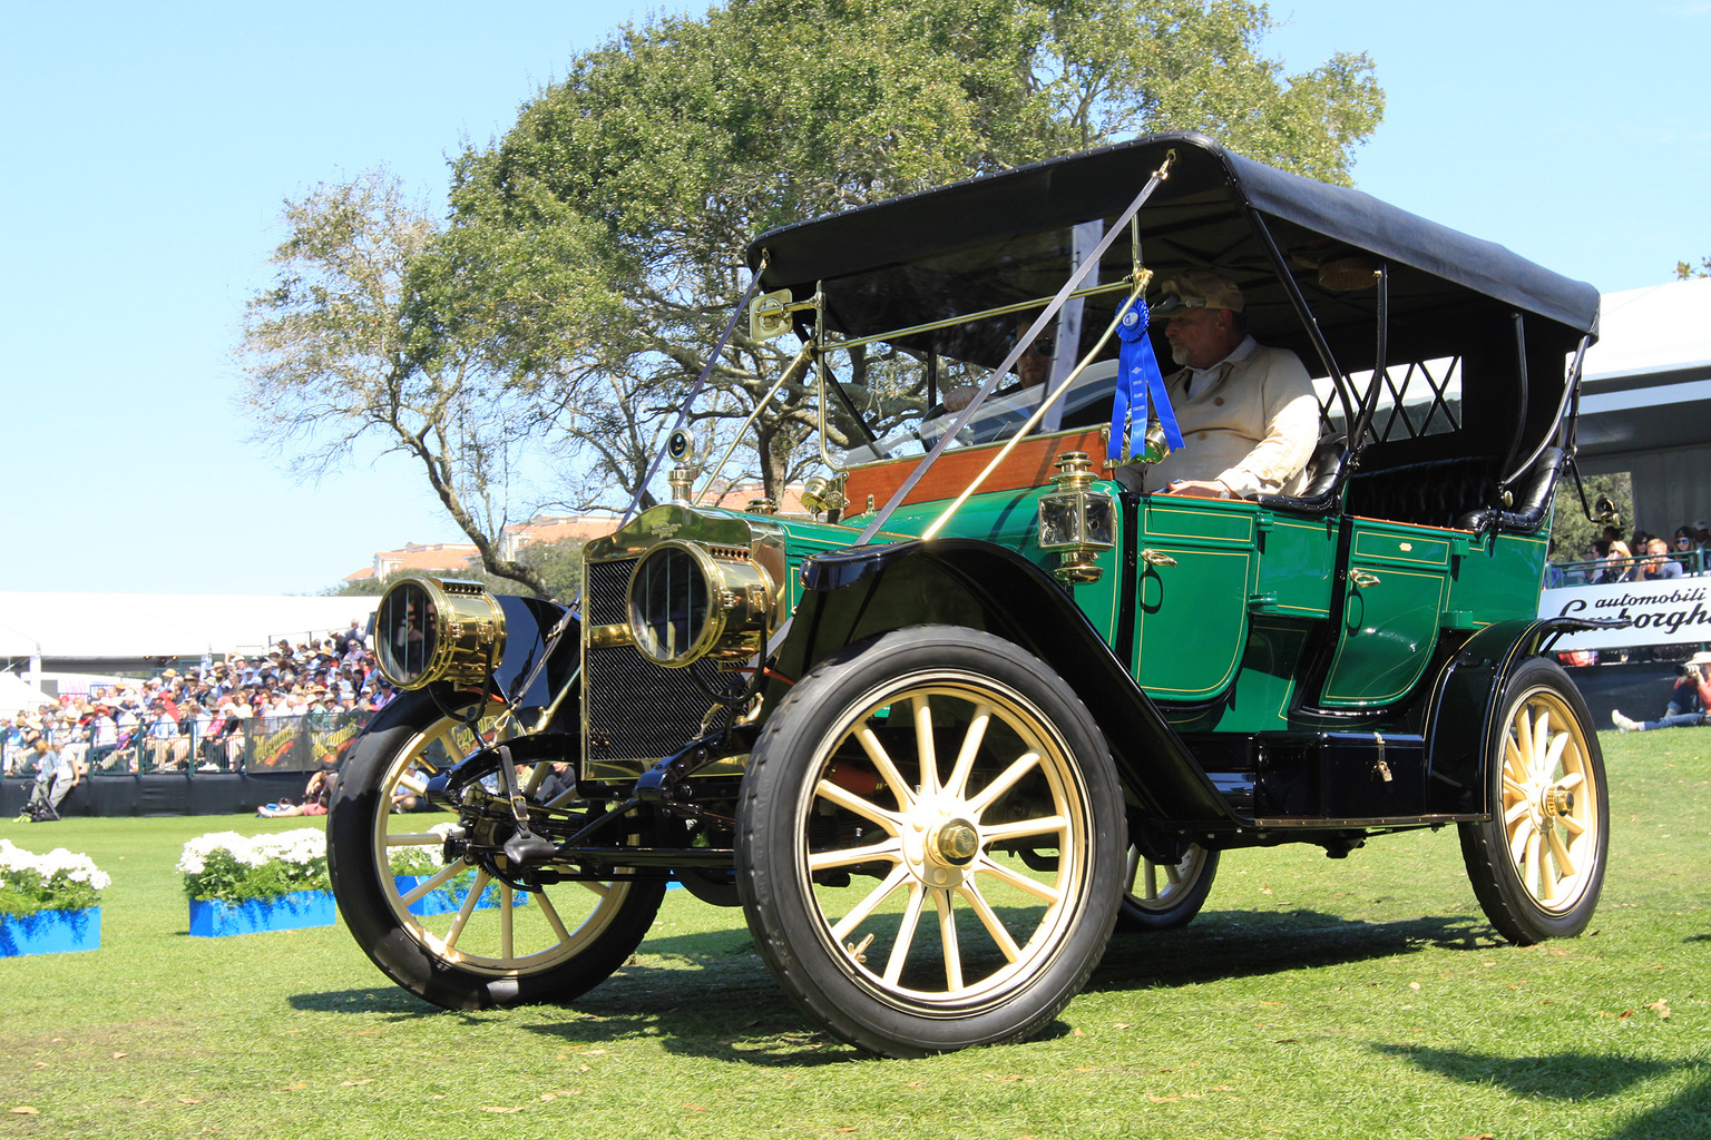
[[[164,668],[96,685],[0,720],[3,774],[36,776],[44,754],[72,783],[101,773],[238,771],[246,740],[275,732],[284,718],[366,721],[394,696],[351,622],[325,639],[282,639],[263,655],[231,653],[219,663],[204,658],[181,673]]]

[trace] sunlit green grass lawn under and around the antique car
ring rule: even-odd
[[[1235,851],[1045,1037],[922,1061],[816,1032],[681,890],[577,1008],[447,1014],[342,926],[186,935],[186,837],[305,820],[7,824],[113,887],[98,952],[0,961],[0,1137],[1711,1137],[1711,730],[1601,742],[1581,938],[1499,942],[1454,829]]]

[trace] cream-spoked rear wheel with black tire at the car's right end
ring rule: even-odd
[[[1497,708],[1492,817],[1459,826],[1473,894],[1518,945],[1578,935],[1598,908],[1610,846],[1598,733],[1574,682],[1543,658],[1514,670]]]

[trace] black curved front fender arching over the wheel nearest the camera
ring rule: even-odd
[[[1157,706],[1069,593],[1033,562],[975,538],[910,540],[809,559],[777,670],[801,677],[852,641],[905,626],[984,629],[1076,689],[1141,814],[1162,824],[1240,824]],[[782,692],[768,692],[768,704]]]

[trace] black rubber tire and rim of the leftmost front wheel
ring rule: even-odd
[[[554,892],[554,914],[568,938],[549,935],[541,950],[500,955],[465,955],[448,952],[431,921],[417,918],[402,904],[390,867],[382,872],[380,841],[388,826],[424,831],[429,819],[452,820],[450,814],[390,812],[404,761],[414,752],[417,762],[424,735],[436,732],[448,718],[426,692],[399,697],[409,702],[397,709],[387,726],[356,740],[344,764],[344,778],[327,817],[327,867],[332,875],[339,914],[358,945],[395,983],[435,1005],[453,1010],[479,1010],[537,1002],[568,1002],[604,981],[642,943],[664,896],[664,882],[613,882],[604,896],[594,896],[592,909],[580,923],[563,902],[582,902],[577,884],[563,884]],[[542,894],[530,894],[541,908]],[[450,920],[443,920],[450,921]],[[498,921],[491,913],[476,911],[471,925]],[[464,926],[462,931],[469,931]],[[460,931],[460,933],[462,933]],[[464,933],[464,937],[471,937]],[[474,940],[474,938],[471,938]]]

